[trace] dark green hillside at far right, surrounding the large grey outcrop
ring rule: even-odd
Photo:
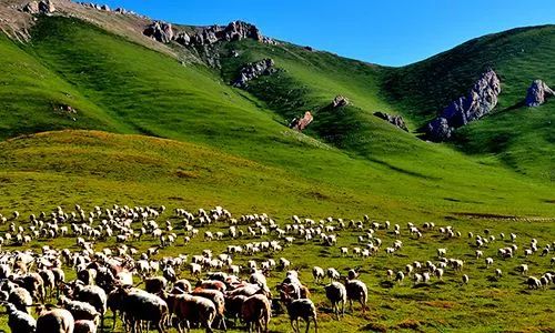
[[[464,95],[487,68],[501,78],[493,113],[456,132],[463,152],[495,155],[512,169],[543,181],[555,180],[555,101],[525,108],[535,79],[555,85],[555,26],[518,28],[471,40],[453,50],[401,69],[385,70],[382,90],[404,115],[423,127],[451,101]]]

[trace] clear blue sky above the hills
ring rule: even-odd
[[[101,0],[99,0],[101,1]],[[369,62],[402,65],[468,39],[555,23],[555,0],[104,0],[170,22],[245,20],[262,33]]]

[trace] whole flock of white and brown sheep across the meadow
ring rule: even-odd
[[[272,316],[281,313],[286,313],[295,332],[300,331],[300,320],[305,322],[306,332],[312,323],[317,331],[317,307],[307,284],[301,281],[290,260],[279,258],[285,248],[319,244],[337,249],[333,251],[340,256],[364,260],[379,253],[395,255],[403,249],[403,238],[418,240],[426,233],[445,239],[463,236],[453,226],[427,222],[422,226],[408,223],[405,229],[389,221],[373,222],[367,216],[360,221],[314,221],[294,215],[280,225],[266,214],[235,219],[220,206],[195,213],[175,209],[170,220],[161,222],[164,212],[164,206],[118,205],[85,212],[75,205],[72,212],[57,208],[28,219],[18,212],[9,218],[0,215],[0,225],[8,228],[0,233],[0,302],[7,309],[11,331],[92,333],[114,331],[119,321],[125,332],[167,332],[170,327],[179,332],[195,327],[212,332],[226,330],[229,324],[238,327],[240,321],[249,332],[268,332]],[[211,231],[216,228],[225,231]],[[357,246],[337,245],[343,231],[355,235],[352,243]],[[379,232],[391,235],[392,244],[383,244]],[[186,251],[194,238],[202,239],[208,249],[161,258],[161,250],[178,242],[184,243]],[[555,242],[539,244],[531,240],[526,249],[519,250],[516,234],[494,235],[488,230],[480,235],[468,233],[467,238],[476,260],[484,260],[487,269],[496,260],[511,260],[517,253],[549,258],[555,246]],[[32,241],[60,239],[74,242],[69,249],[43,245],[40,253],[21,250]],[[498,258],[483,259],[484,249],[500,240],[504,245],[497,251]],[[210,248],[215,241],[225,241],[225,251],[213,253]],[[113,242],[112,246],[97,246]],[[144,251],[133,248],[148,242],[154,242],[153,246]],[[471,276],[463,273],[465,261],[448,258],[448,252],[447,248],[437,249],[436,258],[386,270],[384,279],[391,280],[392,285],[407,279],[414,284],[430,283],[432,279],[443,280],[451,270],[460,275],[460,283],[468,283]],[[262,255],[264,260],[255,260]],[[555,265],[555,258],[551,258],[549,264]],[[545,289],[555,282],[553,271],[536,278],[527,276],[527,264],[517,265],[517,270],[531,289]],[[284,279],[278,285],[269,285],[266,276],[274,271],[282,272]],[[312,275],[316,284],[330,281],[321,290],[337,319],[344,315],[347,303],[351,309],[353,302],[360,303],[363,313],[367,310],[369,290],[359,280],[359,270],[351,269],[342,275],[334,268],[314,266]],[[501,269],[495,270],[495,275],[503,276]],[[111,327],[104,324],[108,310],[113,314]]]

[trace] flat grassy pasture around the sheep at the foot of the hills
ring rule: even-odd
[[[194,255],[201,255],[203,250],[209,249],[212,251],[213,258],[218,258],[219,254],[228,253],[229,245],[238,245],[241,246],[243,252],[232,254],[232,264],[242,268],[239,274],[241,280],[248,280],[250,276],[249,261],[254,261],[258,269],[261,269],[263,262],[271,259],[276,262],[276,266],[264,273],[274,299],[279,299],[276,285],[285,278],[285,271],[299,271],[300,281],[309,287],[311,299],[316,305],[319,327],[323,332],[354,332],[360,330],[376,332],[403,330],[423,332],[533,332],[552,330],[553,323],[555,323],[553,312],[554,285],[548,284],[539,289],[531,289],[526,284],[528,275],[541,278],[544,273],[553,273],[555,270],[552,262],[552,258],[555,256],[553,251],[543,254],[546,246],[553,249],[553,242],[555,241],[553,222],[549,220],[405,220],[390,221],[390,228],[387,229],[385,219],[365,221],[362,214],[360,216],[333,216],[332,219],[327,219],[329,216],[300,215],[295,222],[291,216],[256,219],[255,213],[252,212],[251,215],[233,214],[231,219],[222,216],[208,223],[202,221],[203,219],[199,216],[196,210],[191,210],[194,218],[185,219],[182,215],[178,216],[175,213],[175,209],[182,208],[168,206],[158,216],[149,215],[144,219],[135,219],[130,224],[133,231],[114,232],[112,236],[107,236],[105,229],[100,233],[94,232],[95,235],[93,236],[85,233],[77,235],[71,231],[72,223],[88,225],[84,230],[90,228],[90,230],[100,231],[101,221],[110,221],[105,209],[113,210],[112,206],[102,208],[100,211],[92,208],[84,210],[85,216],[89,216],[92,212],[94,216],[92,223],[87,218],[83,224],[80,222],[79,214],[77,214],[78,218],[74,221],[68,220],[58,223],[59,226],[65,225],[69,228],[68,234],[64,236],[51,238],[41,234],[24,245],[17,245],[14,238],[7,241],[6,233],[10,232],[10,228],[12,230],[16,228],[16,231],[18,231],[19,226],[22,226],[21,234],[32,235],[28,216],[21,214],[19,218],[13,219],[10,212],[3,212],[7,221],[2,224],[1,233],[4,239],[2,260],[6,260],[7,255],[13,254],[16,251],[32,250],[36,253],[41,253],[41,248],[44,245],[59,251],[69,249],[73,253],[80,252],[83,251],[83,245],[77,243],[77,238],[80,236],[88,244],[90,242],[90,246],[94,252],[112,249],[113,253],[115,253],[118,246],[123,244],[130,249],[137,249],[137,253],[132,255],[135,261],[140,259],[139,256],[142,253],[147,253],[148,249],[158,250],[155,254],[149,258],[150,261],[155,262],[162,262],[164,258],[169,256],[186,255],[188,262],[175,268],[175,270],[180,279],[188,279],[194,285],[195,281],[205,278],[208,272],[228,271],[228,265],[221,263],[222,266],[219,268],[204,266],[200,275],[193,276],[190,273],[190,262]],[[137,211],[139,210],[140,208],[137,209]],[[50,210],[46,210],[46,212],[47,216],[43,218],[44,224],[42,229],[48,230],[52,228],[51,224],[48,224],[52,223],[52,221],[48,222]],[[75,210],[64,208],[63,214],[69,214],[69,219],[71,219],[71,212],[75,212]],[[101,212],[100,215],[98,212]],[[40,212],[34,213],[40,219]],[[263,216],[263,212],[256,212],[256,214]],[[270,220],[274,221],[274,224]],[[154,221],[160,231],[155,235],[152,234],[155,229],[147,231],[139,240],[137,233],[140,233],[141,226],[145,225],[143,223],[150,223],[148,221]],[[165,221],[169,221],[169,223]],[[428,228],[424,228],[426,222]],[[435,226],[431,228],[430,222],[433,222]],[[113,225],[118,223],[115,220],[111,220],[108,225],[112,225],[112,229],[115,230]],[[407,223],[414,223],[413,228],[418,230],[420,235],[414,230],[411,233]],[[398,224],[397,234],[395,233],[395,224]],[[171,229],[168,229],[167,225],[171,225]],[[230,235],[230,226],[232,225],[238,230],[235,238]],[[242,231],[242,235],[239,235],[239,230]],[[309,234],[312,235],[311,240],[307,240],[307,230],[310,231]],[[218,238],[216,233],[221,232],[223,236],[209,240],[205,236],[206,232],[212,233],[214,238]],[[470,232],[473,234],[472,238],[468,235]],[[133,233],[135,233],[134,236]],[[174,242],[171,244],[164,242],[164,246],[161,246],[161,238],[167,240],[168,235],[172,233],[176,235]],[[504,234],[503,239],[501,233]],[[511,233],[516,235],[514,241]],[[125,241],[122,242],[120,239],[117,242],[117,234],[125,235]],[[322,234],[326,236],[335,235],[337,243],[326,244]],[[190,238],[186,243],[185,236]],[[490,241],[478,249],[476,239],[480,236]],[[492,236],[495,240],[492,241]],[[293,240],[290,238],[293,238]],[[537,241],[536,246],[538,250],[531,255],[525,255],[525,250],[532,248],[533,239]],[[272,241],[279,242],[281,249],[278,251],[261,250],[261,243]],[[289,243],[289,241],[292,241],[292,243]],[[402,246],[393,253],[387,253],[386,249],[393,248],[394,243],[398,241],[402,242]],[[498,255],[498,249],[512,246],[513,244],[517,248],[513,258]],[[347,253],[342,253],[341,248],[346,248]],[[375,250],[372,251],[370,256],[363,258],[355,255],[356,248]],[[246,249],[258,250],[249,252]],[[438,265],[441,258],[437,249],[446,250],[445,258],[447,261],[450,259],[464,261],[462,270],[456,271],[451,265],[447,265],[441,280],[431,272],[432,276],[428,282],[415,282],[416,272],[422,274],[431,271],[426,266],[427,261]],[[483,252],[481,258],[476,258],[476,250]],[[94,260],[93,258],[94,255],[91,256],[92,260]],[[291,266],[281,270],[279,268],[280,258],[290,261]],[[493,259],[493,264],[488,268],[485,263],[486,258]],[[408,274],[406,265],[415,266],[415,262],[420,262],[422,269],[414,269]],[[522,264],[529,268],[526,274],[518,271]],[[324,270],[334,268],[342,276],[346,276],[347,271],[351,269],[356,270],[360,274],[359,279],[369,289],[369,311],[362,314],[360,304],[355,303],[354,310],[351,311],[347,307],[345,316],[337,320],[332,314],[331,304],[324,293],[324,285],[330,282],[330,279],[325,278],[323,282],[315,283],[312,275],[313,266],[321,266]],[[501,278],[496,276],[496,269],[502,271]],[[63,270],[67,280],[75,278],[75,269],[64,264]],[[397,271],[404,272],[404,281],[394,281],[394,276],[389,278],[387,270],[392,270],[394,273]],[[161,275],[162,271],[145,274]],[[463,284],[462,276],[464,274],[468,276],[467,284]],[[141,281],[139,272],[134,274],[134,281]],[[56,303],[56,300],[51,299],[47,302]],[[111,314],[108,317],[111,319]],[[2,316],[0,325],[4,330],[7,330],[6,321],[7,317]],[[111,327],[111,320],[107,320],[104,324]],[[118,326],[117,332],[123,332],[121,322]],[[231,332],[244,331],[242,324],[238,324],[238,326],[229,325],[229,327]],[[173,329],[170,331],[173,331]],[[270,331],[291,331],[287,315],[274,312],[270,322]]]

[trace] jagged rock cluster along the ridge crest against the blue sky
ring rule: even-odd
[[[275,43],[274,40],[262,36],[255,26],[242,21],[234,21],[228,26],[200,28],[194,33],[189,33],[186,31],[174,32],[171,23],[154,21],[147,27],[144,34],[163,43],[174,40],[184,47],[203,47],[214,44],[219,41],[235,41],[243,39],[253,39],[263,43]]]

